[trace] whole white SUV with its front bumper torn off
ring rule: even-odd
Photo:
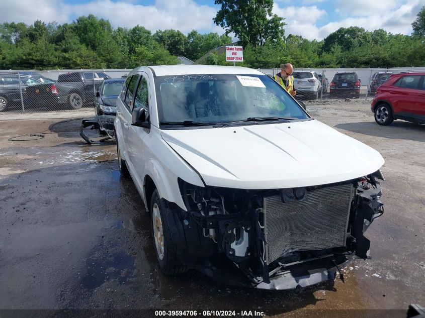
[[[243,67],[131,71],[117,100],[118,161],[151,216],[160,269],[287,289],[334,279],[383,214],[374,149],[311,118]]]

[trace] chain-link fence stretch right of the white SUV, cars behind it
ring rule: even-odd
[[[275,75],[279,68],[259,69]],[[297,99],[373,99],[376,89],[391,74],[425,72],[425,67],[411,68],[308,68],[294,70],[294,87]]]

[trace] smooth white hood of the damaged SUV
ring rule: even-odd
[[[317,120],[162,130],[161,136],[213,186],[271,189],[328,184],[373,173],[384,164],[376,150]]]

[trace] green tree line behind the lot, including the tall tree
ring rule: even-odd
[[[0,69],[128,68],[178,64],[178,56],[212,65],[231,65],[215,49],[243,45],[240,66],[275,68],[290,62],[305,67],[409,67],[425,65],[425,7],[412,22],[412,35],[383,29],[340,28],[322,41],[285,35],[285,19],[272,14],[273,0],[215,0],[221,5],[214,22],[224,35],[151,33],[143,26],[113,28],[93,15],[70,24],[35,21],[0,24]]]

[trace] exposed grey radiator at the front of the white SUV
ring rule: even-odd
[[[321,250],[346,245],[352,184],[307,191],[305,201],[264,197],[268,263],[292,250]]]

